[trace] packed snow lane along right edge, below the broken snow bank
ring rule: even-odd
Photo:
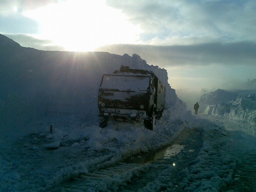
[[[256,188],[256,137],[255,125],[246,122],[233,121],[224,116],[201,116],[224,126],[230,138],[230,154],[236,161],[233,180],[226,188],[231,191],[252,192]]]

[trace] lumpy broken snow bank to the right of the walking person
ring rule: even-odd
[[[203,111],[203,114],[223,115],[231,121],[247,123],[252,126],[253,134],[256,133],[255,90],[236,90],[236,92],[232,92],[218,89],[205,92],[201,96],[200,102],[202,102],[201,111]]]

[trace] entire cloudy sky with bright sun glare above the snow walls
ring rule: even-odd
[[[0,34],[23,47],[135,53],[191,93],[256,78],[255,31],[254,0],[0,1]]]

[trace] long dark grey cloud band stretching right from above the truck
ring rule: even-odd
[[[148,62],[165,66],[180,65],[255,65],[256,43],[209,43],[197,45],[131,45],[114,44],[97,48],[95,51],[104,51],[122,55],[136,53]]]

